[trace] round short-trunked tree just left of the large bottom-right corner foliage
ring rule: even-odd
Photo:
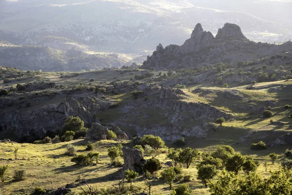
[[[212,179],[214,176],[217,175],[217,169],[215,165],[202,165],[198,169],[198,177],[197,179],[200,179],[202,183],[207,187],[207,183],[210,179]]]

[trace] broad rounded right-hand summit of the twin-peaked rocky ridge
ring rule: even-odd
[[[223,28],[218,29],[216,39],[246,39],[241,29],[236,24],[226,23]]]

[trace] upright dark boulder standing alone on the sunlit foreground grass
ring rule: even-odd
[[[136,148],[123,148],[124,170],[134,170],[138,173],[143,173],[142,166],[146,162],[143,158],[141,150]]]

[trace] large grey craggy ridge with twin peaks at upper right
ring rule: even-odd
[[[278,53],[292,51],[292,42],[281,45],[253,42],[242,34],[236,24],[226,23],[218,30],[214,38],[212,33],[203,30],[198,23],[183,45],[169,45],[165,48],[159,44],[152,56],[147,56],[142,68],[156,70],[198,68],[214,63],[237,63],[270,57]],[[254,53],[257,54],[253,55]],[[274,61],[281,64],[283,60]]]

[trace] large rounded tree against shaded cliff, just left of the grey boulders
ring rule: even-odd
[[[65,120],[65,125],[62,128],[63,132],[66,131],[73,131],[76,136],[85,136],[86,131],[88,130],[86,127],[84,127],[84,121],[81,120],[79,117],[68,117]]]

